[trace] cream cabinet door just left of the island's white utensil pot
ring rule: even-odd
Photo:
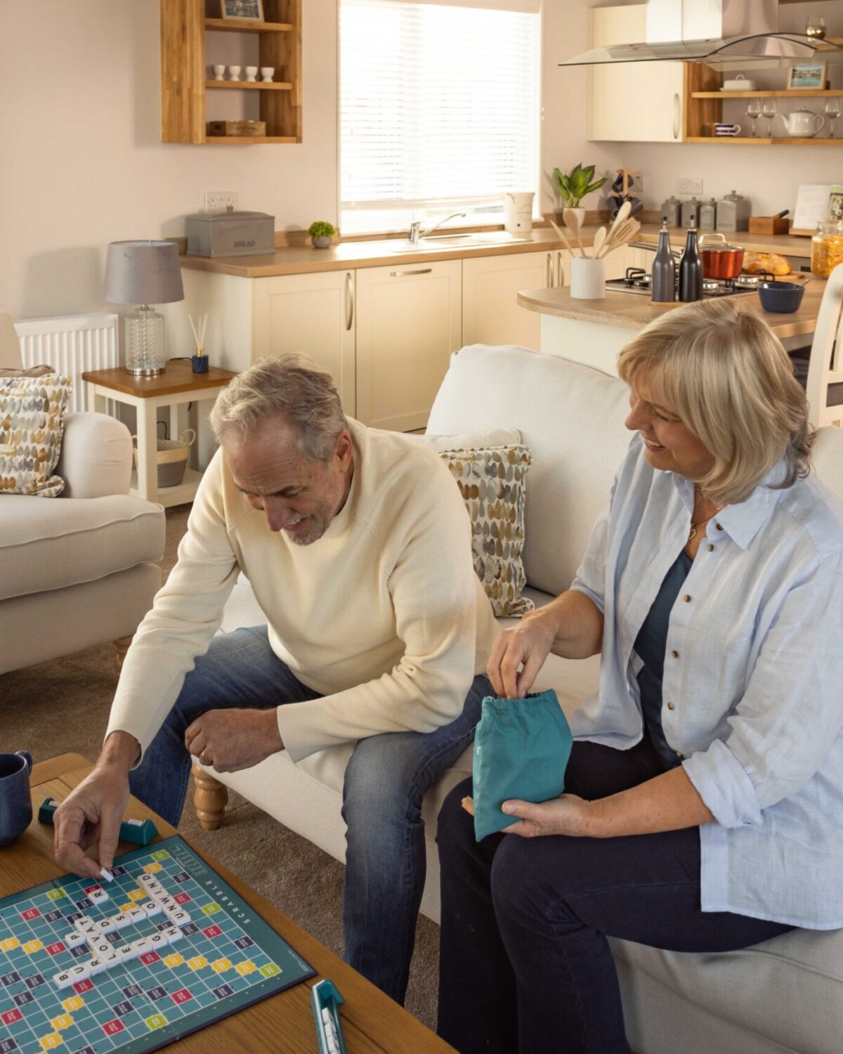
[[[523,289],[565,282],[567,252],[476,256],[463,260],[463,344],[516,344],[538,350],[540,316],[518,307]]]

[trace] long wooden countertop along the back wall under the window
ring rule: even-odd
[[[592,243],[596,230],[596,226],[583,229],[584,245],[590,246]],[[701,231],[701,234],[705,233],[705,231]],[[745,231],[724,233],[727,241],[741,245],[750,252],[780,253],[783,256],[810,258],[810,238],[788,234],[747,234]],[[573,243],[572,238],[569,240]],[[659,225],[643,225],[635,240],[656,243]],[[677,248],[682,248],[685,245],[685,230],[682,228],[673,229],[670,232],[670,240]],[[340,241],[331,249],[302,247],[276,249],[274,253],[262,256],[216,256],[212,259],[207,256],[183,255],[179,259],[183,268],[194,271],[231,274],[241,278],[269,278],[285,274],[349,271],[364,267],[417,264],[420,260],[434,262],[436,260],[468,259],[474,256],[506,256],[510,253],[530,253],[565,248],[552,227],[535,227],[529,240],[525,238],[523,241],[504,246],[442,248],[407,252],[401,251],[406,241],[406,238]]]

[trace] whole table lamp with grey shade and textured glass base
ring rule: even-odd
[[[105,299],[138,304],[125,318],[125,368],[153,376],[166,368],[164,316],[150,304],[184,299],[175,241],[112,241],[105,261]]]

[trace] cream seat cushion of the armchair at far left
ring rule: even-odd
[[[0,496],[0,600],[93,582],[163,555],[164,513],[129,494]]]

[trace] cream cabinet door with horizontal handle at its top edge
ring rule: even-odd
[[[408,432],[427,425],[463,345],[463,260],[356,272],[357,418]]]

